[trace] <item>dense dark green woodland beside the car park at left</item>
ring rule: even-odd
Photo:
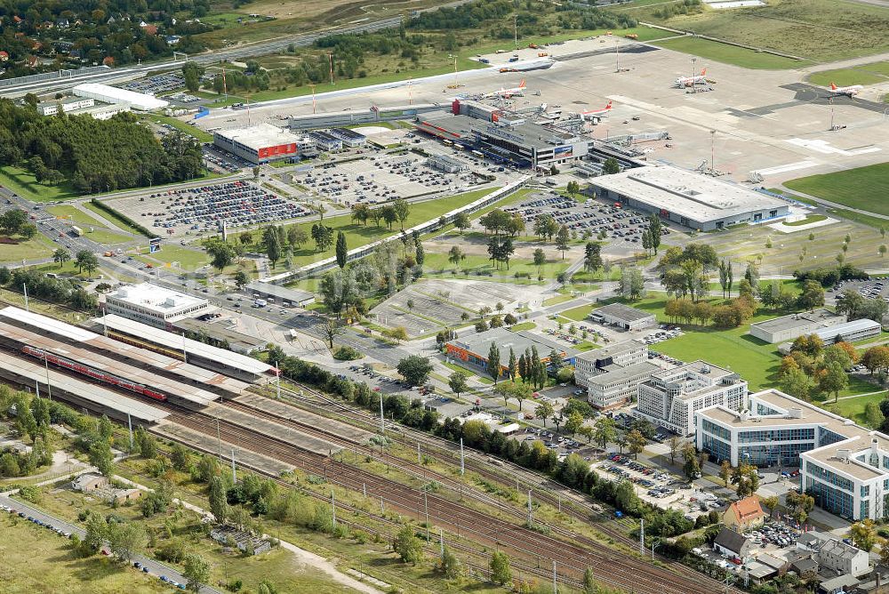
[[[134,188],[197,177],[197,141],[174,132],[158,142],[135,116],[40,116],[29,104],[0,100],[0,165],[34,173],[38,182],[70,179],[80,192]]]

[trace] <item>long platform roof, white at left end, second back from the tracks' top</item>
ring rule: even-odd
[[[0,322],[22,330],[51,336],[58,341],[91,350],[94,353],[129,363],[142,369],[150,369],[172,380],[199,382],[204,389],[224,397],[234,397],[244,392],[250,384],[227,377],[211,370],[182,361],[181,351],[171,357],[154,350],[140,349],[125,342],[116,341],[102,334],[93,333],[76,325],[70,325],[52,317],[43,316],[15,307],[0,309]]]

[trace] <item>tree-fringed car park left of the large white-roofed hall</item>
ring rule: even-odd
[[[581,204],[555,191],[533,194],[524,202],[503,210],[520,214],[529,233],[537,217],[550,214],[559,225],[565,225],[581,234],[586,233],[588,237],[597,237],[604,232],[607,237],[620,238],[622,241],[616,242],[618,246],[623,242],[641,245],[642,232],[648,227],[645,217],[640,213],[624,211],[618,206],[592,199]],[[669,233],[670,230],[666,227],[661,229],[662,235]],[[609,243],[615,244],[614,241]]]

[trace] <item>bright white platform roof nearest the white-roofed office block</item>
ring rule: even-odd
[[[150,348],[166,349],[175,353],[185,353],[188,363],[214,372],[223,373],[238,380],[252,383],[268,383],[275,377],[275,367],[259,359],[233,353],[230,350],[212,347],[200,341],[193,341],[180,334],[167,332],[125,317],[109,314],[92,320],[97,327],[108,328],[108,336],[118,341],[129,342]]]

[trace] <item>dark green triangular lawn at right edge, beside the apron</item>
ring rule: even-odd
[[[889,214],[889,202],[885,201],[889,196],[889,163],[810,175],[785,181],[784,185],[830,202]]]

